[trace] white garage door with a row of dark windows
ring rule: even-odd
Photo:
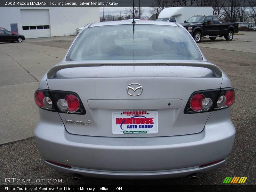
[[[50,37],[49,9],[21,9],[22,33],[26,38]]]

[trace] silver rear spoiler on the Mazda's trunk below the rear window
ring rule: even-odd
[[[208,61],[182,61],[182,60],[114,60],[114,61],[97,61],[97,62],[84,62],[84,61],[64,61],[58,65],[53,66],[47,72],[47,78],[52,79],[57,75],[61,69],[78,68],[78,67],[101,67],[101,66],[183,66],[183,67],[202,67],[208,68],[212,71],[215,77],[221,77],[222,71],[216,65]]]

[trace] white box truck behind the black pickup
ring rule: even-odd
[[[160,12],[157,21],[184,23],[196,15],[213,15],[213,7],[168,7]]]

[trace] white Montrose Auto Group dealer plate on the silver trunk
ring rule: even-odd
[[[157,111],[112,112],[113,134],[150,134],[157,131]]]

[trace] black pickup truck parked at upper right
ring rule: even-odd
[[[234,33],[238,33],[238,23],[220,23],[216,15],[193,16],[181,25],[194,37],[196,43],[202,37],[214,40],[224,36],[226,41],[232,41]]]

